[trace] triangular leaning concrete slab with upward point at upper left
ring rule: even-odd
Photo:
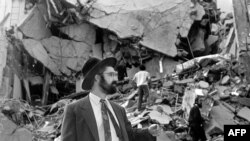
[[[46,25],[44,17],[36,6],[19,26],[19,29],[25,36],[37,40],[51,36],[51,32]]]

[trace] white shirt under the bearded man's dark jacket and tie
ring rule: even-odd
[[[97,130],[98,130],[98,134],[99,134],[99,141],[105,141],[105,136],[104,136],[104,127],[103,127],[103,120],[102,120],[102,111],[101,111],[101,98],[94,95],[93,93],[89,93],[89,100],[91,103],[91,106],[93,108],[93,112],[95,115],[95,119],[96,119],[96,125],[97,125]],[[119,126],[119,122],[116,118],[116,115],[114,113],[114,110],[111,106],[111,104],[109,103],[109,101],[107,99],[106,100],[106,104],[109,108],[109,110],[111,111],[111,113],[113,114],[116,123]],[[117,137],[115,128],[113,126],[112,120],[109,117],[109,124],[110,124],[110,132],[111,132],[111,138],[112,141],[119,141],[119,138]]]

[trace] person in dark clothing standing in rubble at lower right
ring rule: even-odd
[[[200,108],[202,107],[202,99],[197,97],[195,105],[191,108],[188,122],[190,135],[193,141],[206,141],[206,135],[204,130],[204,119],[201,116]]]

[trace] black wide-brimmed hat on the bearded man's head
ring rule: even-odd
[[[109,57],[103,60],[95,57],[90,58],[82,68],[82,74],[84,77],[82,89],[88,91],[92,88],[94,77],[100,68],[105,66],[115,67],[116,63],[117,60],[114,57]]]

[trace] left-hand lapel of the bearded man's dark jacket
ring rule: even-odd
[[[81,102],[81,109],[83,110],[84,118],[86,120],[86,124],[88,125],[89,129],[91,130],[91,133],[96,141],[99,141],[99,134],[97,130],[97,124],[95,115],[93,112],[93,108],[91,106],[89,96],[86,96],[83,101]]]

